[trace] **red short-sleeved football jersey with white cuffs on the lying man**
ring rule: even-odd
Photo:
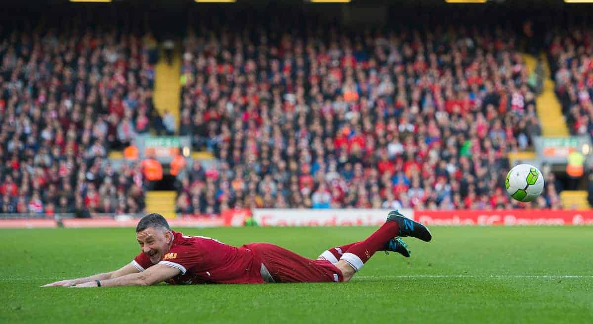
[[[140,271],[153,265],[143,252],[132,264]],[[173,245],[159,264],[181,271],[167,280],[170,284],[264,283],[260,274],[262,261],[250,248],[232,247],[204,236],[185,236],[173,231]]]

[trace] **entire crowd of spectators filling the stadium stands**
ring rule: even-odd
[[[332,26],[189,28],[178,134],[220,163],[180,174],[177,212],[525,206],[503,189],[506,154],[540,134],[517,35]],[[150,34],[117,28],[2,39],[0,213],[144,211],[139,164],[116,172],[106,157],[164,129],[152,103],[156,46]],[[568,93],[591,74],[576,73],[589,61],[571,46],[551,49],[570,67],[556,73],[572,73]],[[591,103],[581,99],[570,109],[590,131]],[[536,205],[560,208],[546,177]]]

